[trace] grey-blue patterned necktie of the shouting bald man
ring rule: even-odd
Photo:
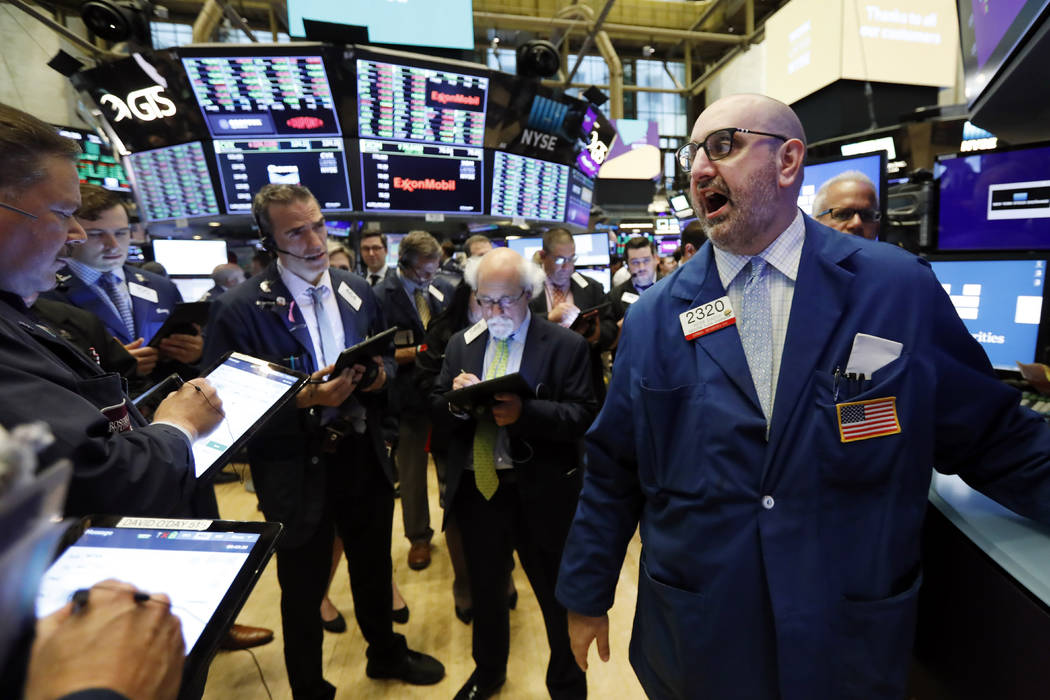
[[[751,272],[743,283],[740,342],[755,382],[758,402],[765,422],[773,415],[773,313],[770,310],[769,263],[759,256],[751,258]]]

